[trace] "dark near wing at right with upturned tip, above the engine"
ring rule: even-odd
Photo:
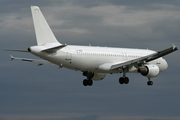
[[[133,59],[133,60],[130,60],[127,62],[114,64],[111,66],[111,70],[121,68],[121,67],[125,68],[125,67],[130,66],[130,65],[138,65],[138,64],[147,63],[147,62],[150,62],[150,61],[155,60],[157,58],[163,57],[169,53],[172,53],[176,50],[178,50],[178,48],[173,44],[173,46],[168,48],[168,49],[165,49],[165,50],[162,50],[162,51],[159,51],[159,52],[156,52],[156,53],[153,53],[153,54],[141,57],[141,58]]]

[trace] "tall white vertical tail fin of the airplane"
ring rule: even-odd
[[[46,43],[60,44],[54,36],[39,7],[31,6],[31,12],[38,46],[45,45]]]

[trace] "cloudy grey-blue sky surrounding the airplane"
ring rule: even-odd
[[[61,43],[149,48],[180,46],[179,0],[1,0],[1,49],[36,45],[30,6],[41,8]],[[0,120],[179,120],[179,51],[164,58],[169,67],[146,85],[147,78],[122,74],[84,87],[81,72],[10,61],[0,51]]]

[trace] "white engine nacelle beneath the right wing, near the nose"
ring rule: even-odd
[[[157,77],[159,75],[159,67],[157,65],[146,65],[144,67],[140,67],[138,72],[141,75],[146,76],[148,78]]]

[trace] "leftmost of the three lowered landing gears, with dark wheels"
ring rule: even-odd
[[[87,79],[83,80],[83,85],[84,86],[92,86],[93,85],[92,78],[94,76],[94,73],[92,73],[92,72],[83,72],[83,76],[87,77]]]

